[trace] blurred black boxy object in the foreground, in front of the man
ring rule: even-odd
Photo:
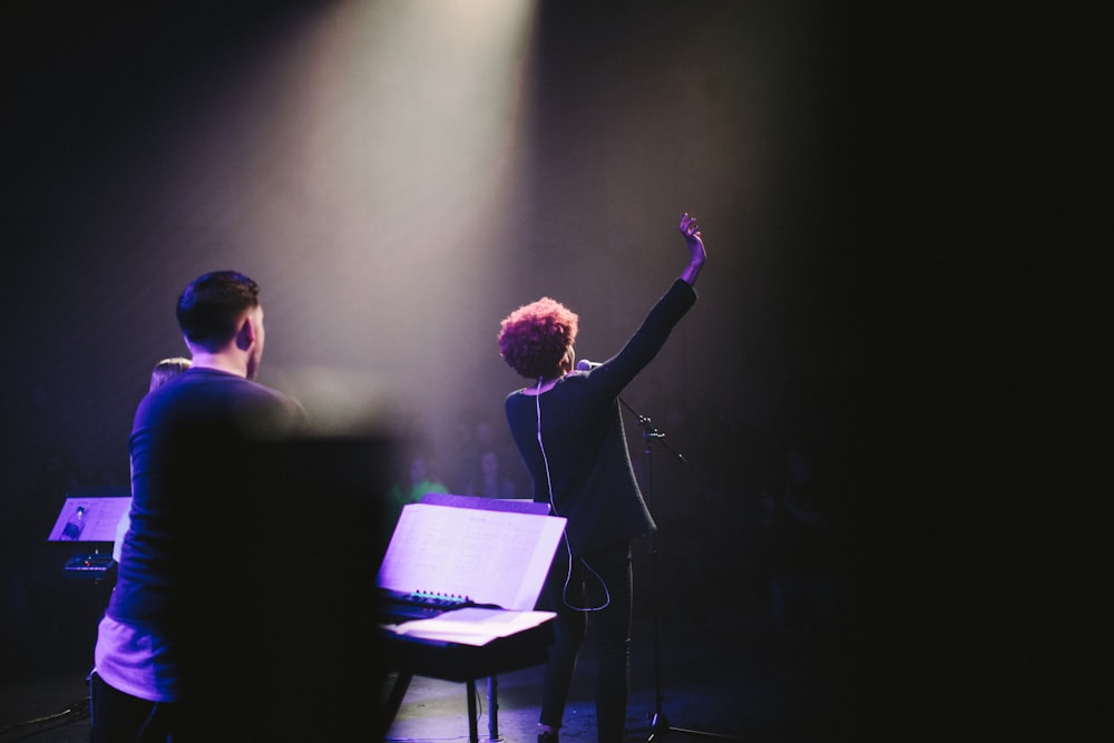
[[[175,627],[186,729],[207,741],[352,740],[374,722],[368,700],[387,673],[368,540],[392,444],[344,436],[243,446],[244,497],[216,502],[199,482],[172,486],[188,504],[194,545]]]

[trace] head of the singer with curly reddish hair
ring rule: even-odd
[[[544,296],[507,315],[500,323],[499,354],[527,379],[553,379],[573,371],[579,316]]]

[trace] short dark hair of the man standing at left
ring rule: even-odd
[[[178,326],[190,343],[217,348],[236,335],[241,316],[258,304],[258,284],[235,271],[214,271],[178,296]]]

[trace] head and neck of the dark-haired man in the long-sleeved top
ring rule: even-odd
[[[186,345],[215,355],[242,358],[248,379],[263,356],[263,307],[260,286],[235,271],[214,271],[195,278],[178,296],[178,326]]]

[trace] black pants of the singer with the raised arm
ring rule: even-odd
[[[561,725],[576,656],[590,622],[598,661],[596,734],[599,743],[623,741],[631,683],[632,594],[629,542],[574,556],[571,574],[564,544],[557,548],[540,605],[557,613],[544,677],[541,724]]]

